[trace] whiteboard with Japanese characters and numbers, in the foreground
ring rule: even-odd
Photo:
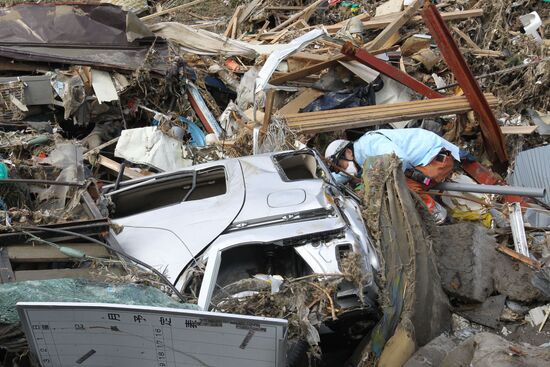
[[[283,367],[287,321],[102,303],[19,302],[43,367]]]

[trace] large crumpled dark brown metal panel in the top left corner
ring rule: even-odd
[[[0,56],[25,61],[95,65],[135,70],[154,43],[166,43],[132,12],[110,5],[18,5],[0,9]],[[156,62],[156,60],[155,60]],[[161,62],[151,70],[163,73]]]

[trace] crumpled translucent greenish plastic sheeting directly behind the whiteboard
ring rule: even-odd
[[[0,284],[0,323],[19,321],[17,302],[97,302],[198,310],[161,290],[141,284],[110,284],[85,279],[31,280]]]

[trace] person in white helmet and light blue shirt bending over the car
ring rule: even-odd
[[[395,153],[403,162],[407,186],[419,193],[438,222],[443,222],[447,211],[432,196],[422,194],[443,182],[451,175],[455,160],[460,162],[459,148],[424,129],[380,129],[369,131],[355,142],[335,140],[326,151],[325,158],[345,174],[334,174],[337,182],[345,183],[350,177],[359,177],[368,157]],[[346,175],[347,174],[347,175]]]

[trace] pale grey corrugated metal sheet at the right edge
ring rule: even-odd
[[[508,181],[514,186],[545,188],[546,195],[541,200],[550,205],[550,145],[518,154]]]

